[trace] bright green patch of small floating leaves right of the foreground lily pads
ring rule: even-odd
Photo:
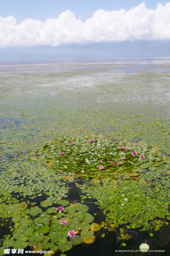
[[[141,179],[134,181],[119,179],[108,182],[103,179],[102,183],[100,180],[88,180],[83,185],[76,183],[82,191],[82,201],[97,200],[95,204],[100,209],[97,214],[106,215],[101,227],[116,231],[118,240],[121,236],[127,239],[125,234],[129,229],[138,228],[151,233],[168,225],[167,220],[170,220],[169,180],[161,173],[158,176],[162,176],[162,179],[158,181],[153,171],[150,171],[150,179],[145,174],[141,176]],[[119,232],[124,235],[118,232],[120,225],[123,229]]]

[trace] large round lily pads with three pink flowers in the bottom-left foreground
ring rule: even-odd
[[[68,200],[59,200],[58,204],[61,206],[47,208],[44,212],[38,207],[30,209],[29,216],[15,224],[13,238],[3,242],[4,249],[30,246],[35,250],[68,251],[72,245],[94,242],[93,231],[98,231],[100,226],[96,223],[90,226],[94,217],[87,212],[88,206],[81,203],[69,205]],[[42,207],[51,205],[50,200],[41,202]]]

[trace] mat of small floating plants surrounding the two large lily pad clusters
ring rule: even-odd
[[[117,236],[117,248],[121,244],[132,248],[132,233],[128,231],[143,234],[136,238],[139,245],[147,234],[158,242],[160,232],[169,232],[169,79],[169,73],[116,73],[104,65],[93,70],[2,75],[2,243],[13,244],[9,240],[13,240],[17,218],[28,217],[35,206],[41,209],[44,200],[57,207],[60,199],[68,197],[99,207],[89,211],[101,226],[94,248],[97,240],[104,247],[104,238],[112,231]],[[38,152],[54,139],[89,134],[151,145],[165,163],[154,163],[130,180],[122,180],[118,173],[116,180],[101,181],[79,180],[73,172],[49,169],[50,161],[29,160],[30,151]],[[76,198],[75,191],[79,191]],[[160,239],[158,244],[164,242]],[[83,255],[86,249],[80,246]]]

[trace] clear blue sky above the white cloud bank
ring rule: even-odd
[[[66,10],[75,13],[76,18],[80,18],[83,22],[91,18],[94,12],[99,9],[111,12],[112,10],[136,7],[144,1],[140,0],[1,0],[0,16],[14,16],[17,20],[16,25],[23,20],[38,19],[43,22],[47,18],[58,18],[59,14]],[[145,0],[148,9],[155,10],[157,3],[165,5],[167,0]]]

